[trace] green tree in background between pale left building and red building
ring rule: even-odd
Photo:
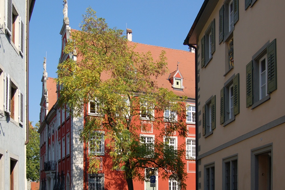
[[[32,126],[29,122],[29,143],[27,144],[27,180],[40,180],[40,134],[38,129],[40,123],[37,122]]]

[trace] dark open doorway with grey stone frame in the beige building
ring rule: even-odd
[[[272,143],[251,150],[251,189],[273,189]]]

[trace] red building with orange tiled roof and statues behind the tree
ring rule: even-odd
[[[62,35],[62,50],[70,36],[69,21],[66,14],[60,34]],[[185,124],[188,128],[187,138],[178,136],[175,132],[169,138],[169,144],[177,147],[185,144],[186,155],[184,158],[185,171],[188,173],[187,189],[195,189],[195,54],[183,50],[174,50],[146,44],[138,44],[131,41],[131,30],[127,29],[129,46],[136,44],[135,51],[138,53],[151,52],[154,60],[157,60],[160,53],[166,52],[168,62],[168,73],[157,78],[158,87],[167,88],[178,96],[187,96],[185,106],[187,117]],[[61,52],[62,52],[61,50]],[[66,59],[80,60],[76,53],[61,53],[60,62]],[[179,64],[178,64],[179,62]],[[42,77],[42,99],[40,113],[40,189],[127,189],[124,171],[112,170],[112,159],[108,154],[106,144],[108,140],[101,138],[99,155],[96,159],[100,161],[100,174],[88,174],[88,153],[90,149],[85,142],[79,140],[79,130],[84,128],[84,117],[72,118],[68,114],[68,108],[61,109],[58,105],[60,96],[60,85],[56,84],[53,78],[47,76],[44,71]],[[92,102],[89,103],[84,116],[96,115]],[[162,114],[156,113],[154,114]],[[169,117],[170,111],[164,111],[164,117]],[[141,116],[141,124],[148,127],[138,131],[145,143],[151,143],[158,134],[152,126],[152,121]],[[163,124],[164,125],[164,124]],[[165,127],[163,126],[162,127]],[[102,133],[103,135],[103,133]],[[190,159],[192,157],[192,160]],[[177,182],[174,176],[169,180],[162,180],[160,173],[149,173],[145,175],[156,175],[156,187],[154,189],[177,189]],[[143,183],[133,182],[135,189],[153,189],[150,181]]]

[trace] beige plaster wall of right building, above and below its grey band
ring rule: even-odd
[[[205,24],[198,39],[198,76],[200,81],[198,88],[198,113],[200,123],[199,155],[221,146],[243,134],[257,129],[285,115],[285,44],[284,29],[285,1],[257,0],[252,8],[246,11],[244,0],[239,0],[239,21],[233,31],[234,38],[234,69],[225,77],[225,62],[227,60],[228,44],[219,44],[219,9],[224,1],[219,1],[211,17]],[[201,38],[215,18],[215,52],[212,60],[205,68],[201,69]],[[270,94],[270,99],[255,109],[246,108],[246,65],[252,60],[252,56],[262,46],[276,38],[277,44],[277,90]],[[224,83],[233,75],[239,73],[240,84],[240,113],[235,116],[235,121],[227,126],[220,125],[220,90]],[[216,128],[213,134],[207,138],[202,136],[202,107],[212,96],[216,95]],[[200,104],[199,104],[200,103]],[[250,189],[251,187],[251,149],[273,143],[273,189],[285,186],[282,179],[285,152],[285,123],[266,130],[230,147],[201,158],[201,189],[204,189],[204,165],[215,162],[215,189],[222,189],[222,161],[223,158],[238,154],[238,189]],[[262,140],[260,140],[262,138]]]

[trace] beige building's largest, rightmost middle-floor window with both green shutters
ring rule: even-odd
[[[264,46],[246,66],[246,101],[252,109],[270,99],[277,89],[276,39]]]

